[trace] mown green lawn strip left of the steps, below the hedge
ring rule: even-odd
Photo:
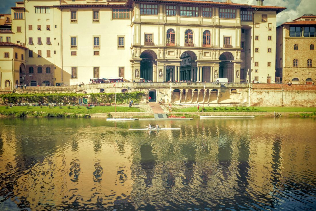
[[[91,113],[108,113],[108,112],[115,112],[115,106],[96,106],[92,107],[90,109],[87,109],[84,106],[80,106],[77,108],[77,106],[70,106],[70,109],[67,108],[67,106],[61,106],[62,108],[59,108],[59,106],[55,106],[52,108],[49,108],[48,106],[43,106],[40,108],[40,106],[29,106],[27,109],[27,106],[12,106],[8,109],[5,109],[5,106],[0,106],[0,111],[6,110],[6,111],[38,111],[38,112],[56,112],[56,113],[76,113],[76,114],[91,114]],[[116,106],[116,112],[141,112],[138,108],[134,107],[123,107],[123,106]]]

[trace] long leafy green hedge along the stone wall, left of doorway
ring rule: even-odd
[[[129,99],[133,99],[134,103],[141,101],[144,92],[116,93],[117,104],[127,104]],[[0,94],[0,104],[8,103],[77,103],[79,98],[88,96],[89,103],[114,103],[114,93],[9,93]]]

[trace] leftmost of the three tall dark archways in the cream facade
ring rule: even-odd
[[[140,63],[140,77],[145,80],[153,80],[153,69],[154,65],[157,65],[155,61],[157,59],[157,55],[152,50],[145,50],[140,58],[143,59]]]

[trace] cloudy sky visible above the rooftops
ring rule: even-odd
[[[0,0],[0,13],[11,13],[10,7],[15,6],[19,0]],[[256,0],[232,0],[233,3],[257,5]],[[291,21],[305,13],[316,15],[316,0],[264,0],[264,5],[286,7],[287,9],[277,15],[277,25]]]

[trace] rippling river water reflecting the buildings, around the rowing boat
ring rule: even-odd
[[[0,210],[315,210],[316,120],[0,119]]]

